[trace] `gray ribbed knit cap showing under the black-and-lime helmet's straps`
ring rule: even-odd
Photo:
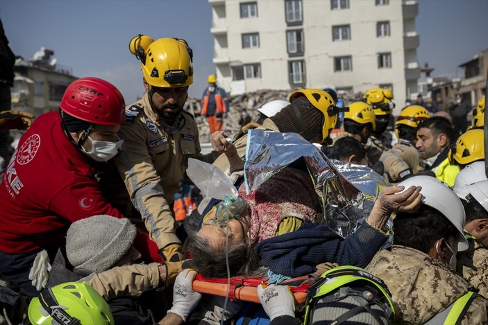
[[[362,306],[360,297],[353,297],[351,295],[345,297],[342,300],[324,303],[323,299],[319,299],[312,310],[312,322],[310,324],[327,325],[332,324],[335,319],[347,313],[349,310]],[[366,301],[364,301],[366,303]],[[357,313],[351,318],[346,319],[341,324],[343,325],[383,325],[388,324],[388,319],[385,317],[385,311],[377,304],[369,304],[371,313],[375,313],[382,323],[378,324],[376,319],[370,312],[363,309],[360,313]]]

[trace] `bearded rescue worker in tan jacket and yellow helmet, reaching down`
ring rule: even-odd
[[[201,152],[199,131],[183,110],[193,83],[192,49],[184,39],[153,40],[137,35],[129,49],[142,63],[146,94],[126,107],[119,137],[124,154],[115,159],[133,207],[168,267],[168,283],[180,271],[183,256],[171,209],[188,157]]]

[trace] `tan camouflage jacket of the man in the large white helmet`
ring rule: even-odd
[[[382,249],[366,270],[392,292],[396,324],[423,324],[464,295],[471,285],[435,258],[410,247]],[[476,297],[462,324],[488,324],[488,301]]]

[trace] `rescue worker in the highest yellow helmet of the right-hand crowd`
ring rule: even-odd
[[[369,89],[362,96],[362,100],[373,108],[376,128],[370,135],[372,146],[384,152],[392,148],[392,134],[387,131],[390,118],[392,118],[395,104],[392,102],[393,93],[384,88]]]

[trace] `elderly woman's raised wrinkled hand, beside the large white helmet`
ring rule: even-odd
[[[369,225],[382,229],[393,211],[414,212],[419,209],[422,202],[421,186],[410,186],[403,191],[404,188],[404,186],[383,188],[367,219]],[[403,192],[398,193],[401,191]]]

